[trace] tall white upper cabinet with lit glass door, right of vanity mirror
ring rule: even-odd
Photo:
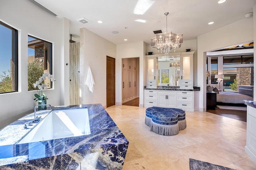
[[[180,55],[180,88],[193,89],[193,54],[194,51]]]

